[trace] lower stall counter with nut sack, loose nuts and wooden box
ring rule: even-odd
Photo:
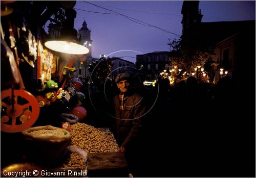
[[[22,132],[24,163],[40,168],[41,175],[90,177],[127,176],[125,157],[108,128],[85,123],[71,125],[71,132],[51,125],[36,126]],[[11,169],[14,163],[2,167]],[[13,170],[15,171],[15,170]],[[16,170],[17,171],[17,170]],[[20,171],[20,170],[19,170]]]

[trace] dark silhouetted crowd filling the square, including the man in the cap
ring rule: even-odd
[[[127,76],[119,74],[98,89],[100,102],[87,121],[112,128],[134,176],[252,174],[255,113],[247,108],[244,88],[229,77],[217,85],[189,77],[170,86],[167,79],[159,79],[148,88],[134,86]]]

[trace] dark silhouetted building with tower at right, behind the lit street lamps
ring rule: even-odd
[[[216,81],[225,75],[221,68],[239,83],[245,73],[255,75],[255,20],[202,22],[199,1],[184,1],[181,14],[182,47],[213,47],[212,61],[218,65],[211,71]]]

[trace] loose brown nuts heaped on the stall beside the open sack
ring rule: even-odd
[[[71,145],[88,153],[118,151],[118,145],[111,133],[102,132],[85,123],[71,125]],[[82,157],[72,153],[62,168],[85,168]]]

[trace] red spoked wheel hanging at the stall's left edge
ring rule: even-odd
[[[14,90],[14,109],[11,104],[12,90],[1,92],[1,131],[15,133],[30,128],[39,116],[37,99],[26,90]]]

